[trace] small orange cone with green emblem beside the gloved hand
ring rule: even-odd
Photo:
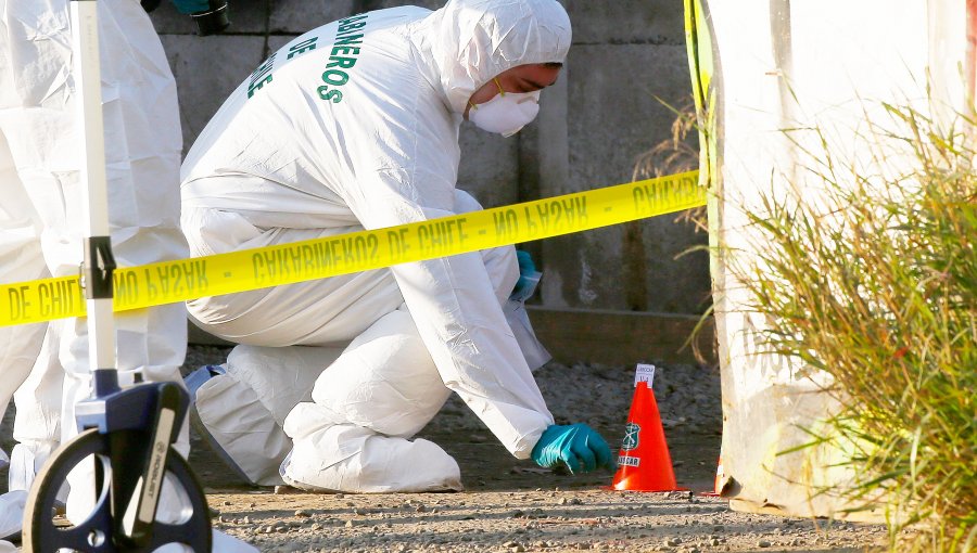
[[[658,414],[658,402],[647,382],[638,382],[618,455],[611,488],[633,491],[676,491],[672,455]]]

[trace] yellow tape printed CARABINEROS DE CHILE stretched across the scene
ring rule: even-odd
[[[399,227],[115,271],[115,311],[379,269],[607,227],[706,204],[698,171]],[[0,326],[85,316],[78,276],[2,284]]]

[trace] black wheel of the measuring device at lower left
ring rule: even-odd
[[[58,492],[68,473],[94,455],[103,468],[101,488],[97,490],[94,510],[85,522],[72,526],[55,517]],[[179,520],[156,520],[152,537],[142,546],[118,543],[113,536],[118,526],[111,512],[112,467],[109,462],[109,437],[91,428],[59,448],[38,474],[27,498],[24,513],[23,546],[28,553],[52,553],[62,550],[81,552],[152,552],[166,543],[182,543],[195,553],[211,551],[211,516],[206,497],[187,461],[175,450],[166,455],[165,480],[179,499]],[[122,515],[119,515],[122,516]]]

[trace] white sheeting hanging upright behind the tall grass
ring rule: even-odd
[[[719,201],[713,233],[727,252],[749,258],[758,240],[746,213],[762,209],[761,194],[817,202],[819,183],[803,167],[804,153],[821,151],[817,137],[786,129],[819,128],[832,155],[885,173],[874,166],[859,133],[879,120],[880,102],[912,105],[942,117],[965,106],[966,3],[939,0],[873,0],[804,3],[701,2],[714,34],[720,72],[718,93]],[[706,29],[700,29],[706,31]],[[927,87],[929,91],[927,92]],[[800,368],[764,351],[757,331],[762,317],[744,308],[745,291],[728,271],[714,267],[715,312],[722,362],[724,428],[722,464],[735,480],[734,509],[778,510],[804,516],[842,516],[845,506],[821,485],[843,483],[838,459],[823,448],[778,455],[810,436],[834,409],[824,374],[805,377]]]

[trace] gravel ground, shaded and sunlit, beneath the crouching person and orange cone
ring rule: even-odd
[[[227,349],[191,347],[185,370],[221,362]],[[655,362],[652,360],[652,362]],[[715,369],[655,362],[655,390],[680,486],[693,491],[618,492],[610,473],[568,475],[509,455],[452,398],[420,433],[461,466],[458,493],[313,494],[233,479],[191,436],[191,465],[207,491],[214,526],[263,552],[348,551],[804,551],[855,552],[885,542],[885,528],[734,513],[709,490],[722,415]],[[620,445],[633,366],[549,363],[536,381],[558,423],[586,422]],[[0,445],[10,450],[9,411]]]

